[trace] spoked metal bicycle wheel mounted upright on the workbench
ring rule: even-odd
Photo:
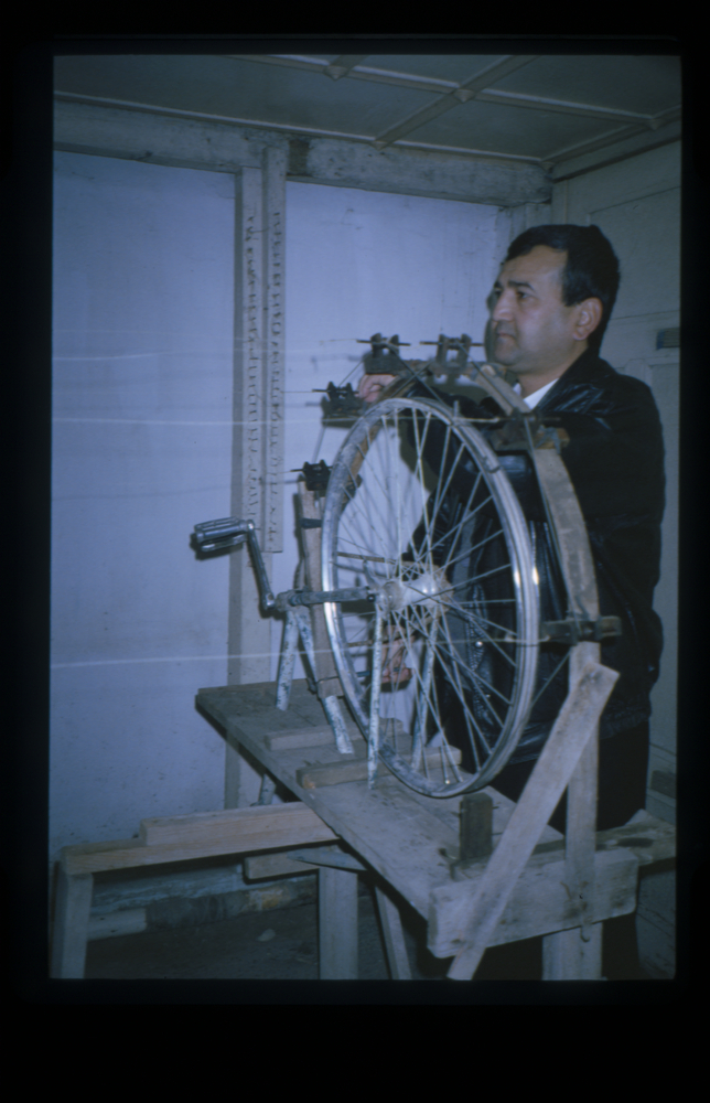
[[[324,590],[363,589],[324,612],[364,735],[379,698],[386,765],[429,796],[488,784],[530,710],[538,592],[520,506],[471,422],[408,398],[359,418],[330,476],[322,579]],[[406,682],[381,684],[377,615],[387,653],[404,649]]]

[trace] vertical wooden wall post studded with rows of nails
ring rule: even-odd
[[[254,521],[267,574],[283,548],[283,332],[286,154],[235,176],[232,516]],[[271,677],[271,618],[259,609],[246,546],[229,557],[229,685]],[[227,745],[225,807],[254,803],[260,775]]]

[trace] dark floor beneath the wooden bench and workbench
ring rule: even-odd
[[[358,922],[359,979],[389,979],[374,891],[362,878]],[[427,950],[423,920],[412,911],[402,917],[402,925],[412,979],[444,979],[449,962],[433,957]],[[603,968],[609,979],[649,979],[637,965],[628,964],[623,936],[607,941],[611,944],[605,947]],[[539,940],[531,939],[490,949],[478,966],[476,981],[540,979],[540,946]],[[316,981],[318,908],[315,903],[302,903],[273,911],[245,912],[215,923],[89,942],[85,977]]]

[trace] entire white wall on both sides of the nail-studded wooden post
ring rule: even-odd
[[[290,469],[344,436],[316,448],[311,388],[341,383],[376,330],[412,356],[440,332],[481,340],[501,251],[496,207],[287,192],[277,591],[298,561]],[[189,538],[229,514],[234,178],[57,153],[54,266],[52,858],[223,804],[224,743],[194,695],[227,681],[228,563]],[[275,621],[275,675],[280,645]]]

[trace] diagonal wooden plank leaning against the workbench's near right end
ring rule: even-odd
[[[462,950],[449,971],[451,979],[467,981],[478,967],[508,896],[569,783],[617,677],[616,671],[590,663],[572,687],[486,872],[471,892],[470,919],[460,932]]]

